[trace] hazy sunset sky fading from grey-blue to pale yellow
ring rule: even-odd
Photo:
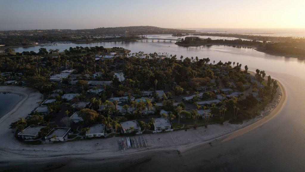
[[[305,28],[305,0],[0,0],[0,30]]]

